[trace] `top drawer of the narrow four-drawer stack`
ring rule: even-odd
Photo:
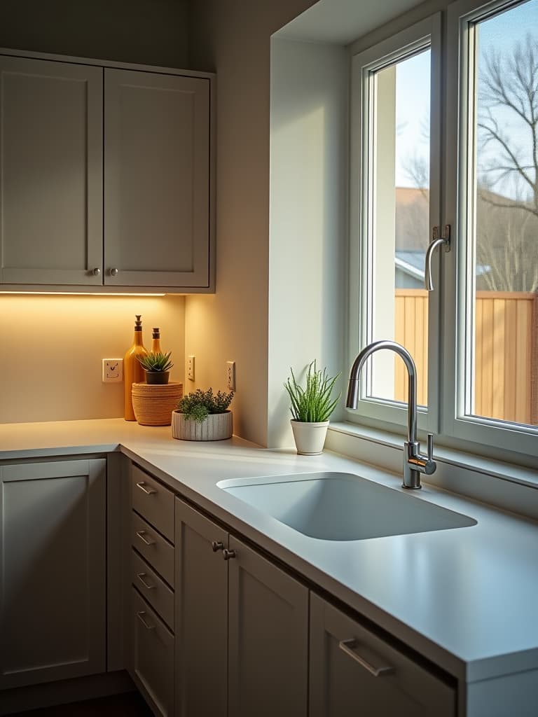
[[[135,511],[174,543],[174,493],[136,465],[131,465],[131,492]]]

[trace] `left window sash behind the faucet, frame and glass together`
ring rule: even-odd
[[[430,224],[438,224],[438,52],[435,16],[354,58],[351,196],[357,196],[351,227],[357,244],[352,277],[358,284],[351,318],[360,346],[390,338],[402,343],[417,365],[419,424],[435,429],[428,404],[430,351],[437,356],[437,303],[424,289],[424,258]],[[435,47],[436,46],[436,47]],[[436,298],[435,298],[436,302]],[[429,340],[432,337],[434,341]],[[367,365],[362,414],[404,422],[407,371],[395,353],[383,351]]]

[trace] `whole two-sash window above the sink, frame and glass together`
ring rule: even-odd
[[[444,54],[439,28],[433,16],[353,59],[350,357],[378,338],[402,343],[419,427],[534,455],[538,0],[450,5]],[[450,252],[433,255],[426,292],[441,224]],[[383,353],[351,419],[404,424],[405,369]]]

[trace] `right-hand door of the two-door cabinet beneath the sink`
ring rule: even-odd
[[[229,717],[305,717],[308,589],[230,536]]]

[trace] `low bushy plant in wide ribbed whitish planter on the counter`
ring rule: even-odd
[[[187,441],[220,441],[232,436],[229,394],[213,389],[197,389],[179,401],[172,413],[172,436]]]

